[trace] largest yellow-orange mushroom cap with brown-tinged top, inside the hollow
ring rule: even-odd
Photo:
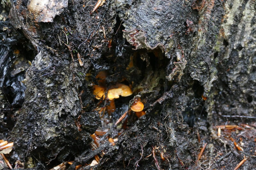
[[[132,95],[132,90],[128,85],[124,84],[116,84],[116,88],[112,88],[108,90],[108,99],[118,99],[119,96],[127,97]]]

